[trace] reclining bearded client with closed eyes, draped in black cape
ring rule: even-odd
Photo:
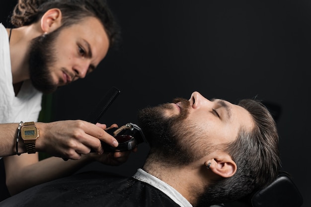
[[[142,109],[150,143],[132,177],[87,172],[32,187],[1,207],[208,207],[245,198],[278,175],[278,133],[261,103],[189,100]]]

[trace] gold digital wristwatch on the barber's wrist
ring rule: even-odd
[[[34,122],[25,122],[20,131],[21,138],[24,140],[26,152],[36,153],[36,140],[39,137],[39,130]]]

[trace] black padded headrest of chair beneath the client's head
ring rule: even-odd
[[[250,199],[224,204],[224,207],[301,207],[302,205],[303,197],[290,175],[281,172],[273,183],[255,192]]]

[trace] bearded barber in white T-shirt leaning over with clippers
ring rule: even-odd
[[[115,124],[38,122],[42,94],[92,72],[118,34],[105,2],[77,2],[19,0],[11,16],[14,28],[0,24],[0,157],[10,195],[70,175],[93,160],[119,165],[129,156],[106,153],[101,146],[101,140],[118,145],[105,131]],[[38,152],[53,157],[39,161]]]

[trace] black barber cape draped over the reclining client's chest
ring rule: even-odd
[[[0,207],[180,207],[155,187],[132,177],[85,172],[40,184]]]

